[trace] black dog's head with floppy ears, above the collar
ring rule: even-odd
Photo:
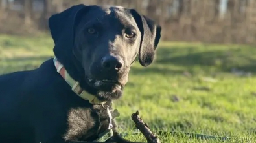
[[[118,99],[137,55],[154,60],[161,26],[134,9],[76,5],[52,15],[54,54],[67,72],[102,100]]]

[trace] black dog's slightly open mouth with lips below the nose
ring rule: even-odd
[[[91,77],[86,77],[87,81],[91,86],[100,91],[115,92],[116,90],[121,90],[122,84],[117,80],[112,79],[93,79]]]

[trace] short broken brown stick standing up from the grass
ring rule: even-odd
[[[139,118],[139,111],[132,114],[132,120],[134,121],[136,128],[143,133],[148,143],[161,143],[159,138],[150,131],[148,125]]]

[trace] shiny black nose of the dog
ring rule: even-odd
[[[107,55],[101,59],[101,66],[106,70],[119,71],[124,64],[124,61],[119,56]]]

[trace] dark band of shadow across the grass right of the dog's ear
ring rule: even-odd
[[[231,48],[228,50],[204,50],[197,47],[160,47],[155,64],[183,66],[190,71],[194,66],[204,69],[215,67],[220,72],[231,72],[233,68],[256,73],[256,50],[253,48]],[[246,51],[247,50],[247,51]],[[253,54],[254,53],[254,54]]]

